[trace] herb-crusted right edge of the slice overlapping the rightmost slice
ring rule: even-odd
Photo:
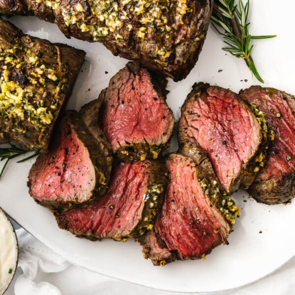
[[[257,173],[260,171],[260,169],[264,166],[264,163],[266,162],[268,147],[270,142],[274,140],[274,135],[270,126],[266,123],[264,113],[259,111],[255,104],[246,100],[243,101],[248,105],[252,113],[255,115],[257,121],[260,123],[262,132],[261,144],[259,145],[254,156],[243,167],[242,171],[240,172],[240,175],[235,179],[233,184],[235,186],[236,183],[240,182],[240,188],[248,189],[248,187],[253,183]]]

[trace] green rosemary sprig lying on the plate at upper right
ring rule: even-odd
[[[254,46],[251,40],[273,38],[276,35],[252,36],[249,33],[249,5],[249,0],[245,5],[242,0],[238,0],[238,5],[235,4],[235,0],[215,0],[211,17],[212,26],[223,36],[223,41],[228,46],[222,49],[236,58],[244,59],[257,80],[264,83],[251,57]]]

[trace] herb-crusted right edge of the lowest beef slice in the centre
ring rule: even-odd
[[[210,200],[210,207],[215,206],[222,213],[227,222],[232,226],[235,218],[239,216],[239,208],[236,207],[231,196],[221,189],[217,177],[215,176],[212,164],[202,149],[194,147],[191,143],[184,143],[179,153],[191,158],[198,165],[199,181],[205,195]],[[223,242],[228,243],[222,235]]]

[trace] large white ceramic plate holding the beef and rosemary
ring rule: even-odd
[[[279,6],[274,0],[250,2],[252,34],[278,35],[275,39],[255,42],[253,59],[265,86],[295,94],[295,2],[281,0]],[[99,43],[66,39],[53,24],[33,17],[13,17],[11,21],[26,33],[67,43],[87,52],[68,108],[80,109],[84,103],[95,99],[126,63],[124,59],[113,57]],[[168,104],[176,118],[179,118],[180,106],[195,82],[204,81],[234,91],[259,84],[244,61],[226,54],[222,47],[219,36],[209,29],[193,71],[184,81],[175,83],[169,80]],[[28,194],[26,182],[32,163],[33,160],[9,163],[0,179],[0,206],[33,236],[66,259],[101,274],[167,291],[211,292],[254,282],[295,255],[295,202],[288,206],[266,206],[257,204],[240,191],[234,199],[241,214],[229,237],[229,245],[217,247],[204,261],[152,266],[150,261],[143,259],[140,245],[132,240],[127,243],[113,240],[91,242],[60,230],[49,210],[38,206]]]

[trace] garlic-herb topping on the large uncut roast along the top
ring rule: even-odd
[[[66,26],[75,25],[82,32],[89,32],[93,41],[112,34],[112,37],[124,42],[124,30],[120,30],[123,27],[142,41],[151,37],[155,30],[170,39],[183,25],[185,15],[193,11],[188,7],[187,0],[84,0],[73,1],[75,4],[61,0],[37,2],[43,2],[54,11],[59,10]],[[169,20],[172,10],[173,21]],[[157,48],[156,53],[159,58],[167,59],[172,51],[163,46]]]

